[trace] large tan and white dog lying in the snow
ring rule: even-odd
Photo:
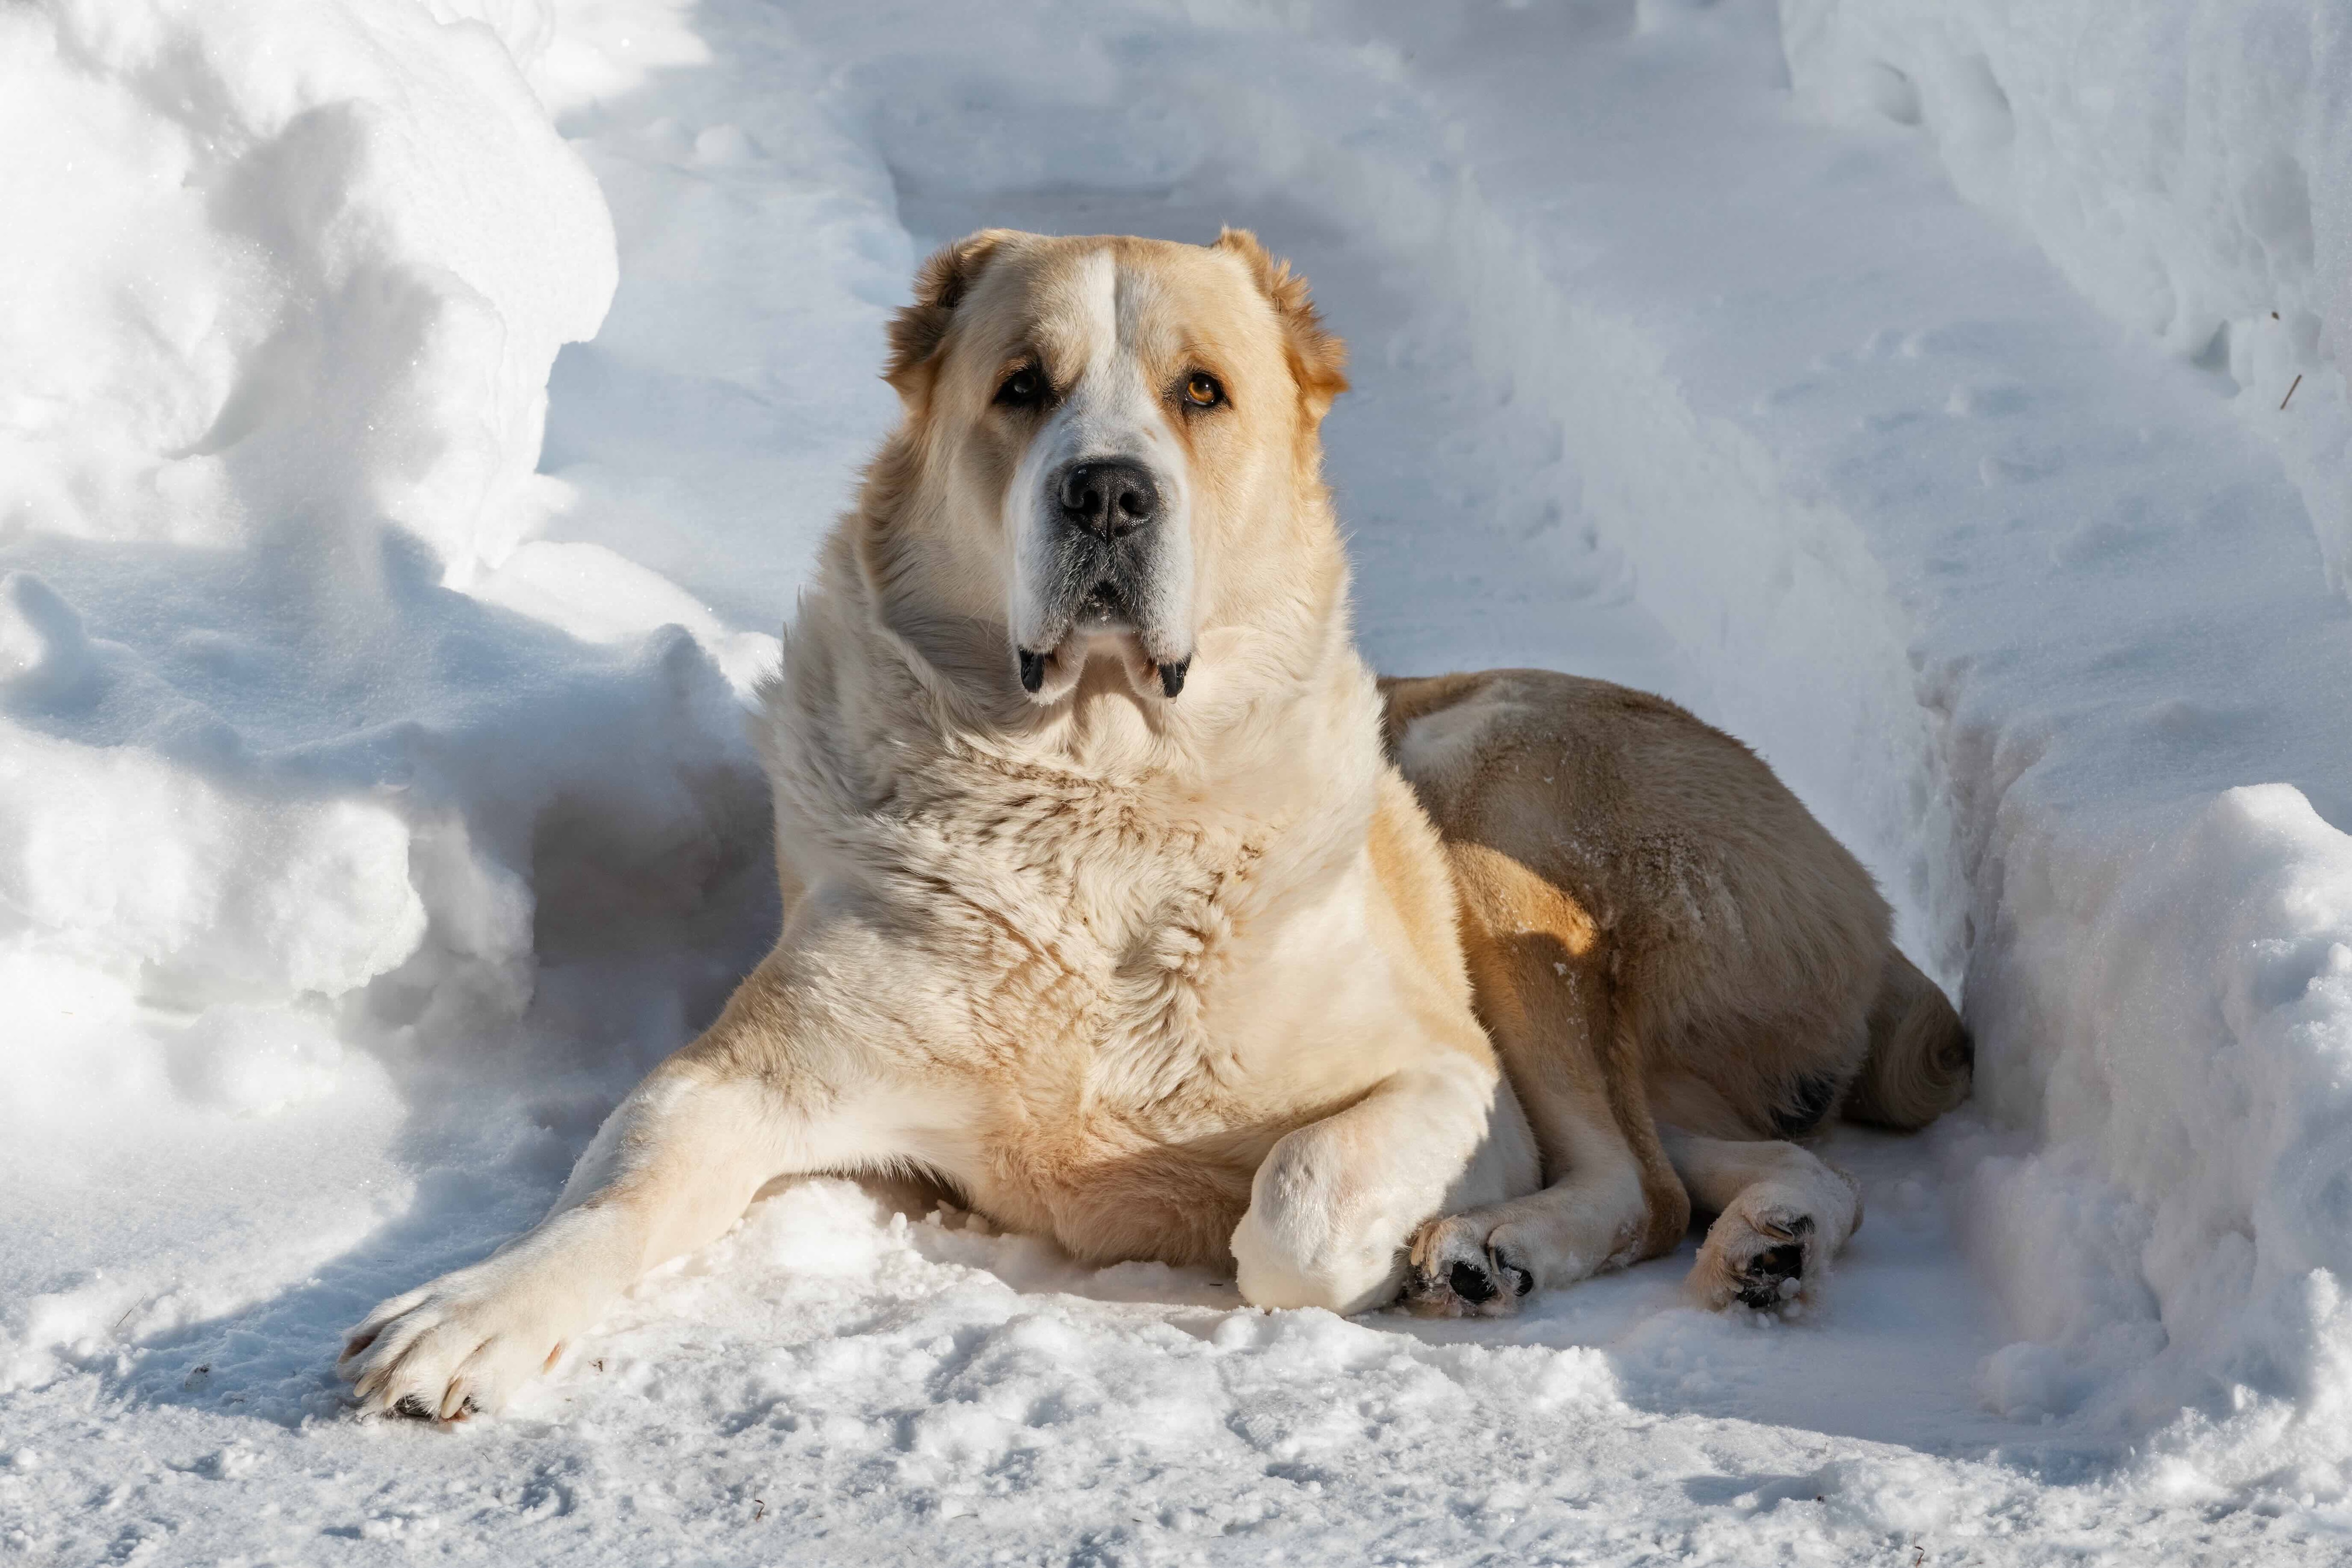
[[[1693,1206],[1708,1302],[1820,1276],[1860,1206],[1790,1138],[1945,1110],[1959,1020],[1679,708],[1374,679],[1322,484],[1341,371],[1247,233],[931,256],[906,416],[764,689],[783,936],[536,1229],[353,1331],[365,1408],[496,1408],[816,1171],[1261,1307],[1508,1312]]]

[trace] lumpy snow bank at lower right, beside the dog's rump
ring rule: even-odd
[[[1971,1175],[1976,1246],[2030,1340],[1987,1361],[1985,1399],[2065,1413],[2122,1375],[2145,1427],[2183,1396],[2270,1401],[2249,1422],[2258,1462],[2333,1469],[2352,1403],[2352,839],[2298,790],[2253,785],[2107,842],[2020,823],[2002,870],[2020,940],[1985,971],[2004,1048],[1987,1098],[2042,1147]]]

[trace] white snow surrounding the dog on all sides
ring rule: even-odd
[[[2352,1556],[2345,47],[0,12],[0,1544]],[[1258,1314],[821,1180],[496,1422],[343,1413],[339,1331],[529,1222],[774,931],[741,693],[983,221],[1256,226],[1355,348],[1374,661],[1668,691],[1877,870],[1978,1095],[1835,1135],[1818,1312],[1693,1312],[1684,1248],[1505,1324]]]

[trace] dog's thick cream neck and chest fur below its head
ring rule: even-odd
[[[1345,637],[1279,708],[1209,719],[1185,693],[1202,733],[1103,731],[1091,762],[957,717],[844,571],[786,642],[762,726],[786,882],[889,954],[896,994],[851,1011],[875,1067],[943,1107],[929,1164],[1084,1258],[1225,1258],[1272,1143],[1369,1086],[1334,994],[1385,985],[1385,764]]]

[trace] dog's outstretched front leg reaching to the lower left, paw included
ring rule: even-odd
[[[727,1013],[604,1119],[548,1218],[473,1267],[395,1295],[336,1371],[362,1410],[459,1420],[555,1363],[647,1269],[715,1241],[776,1175],[901,1154],[889,1095],[844,1091],[826,1030],[771,959]]]

